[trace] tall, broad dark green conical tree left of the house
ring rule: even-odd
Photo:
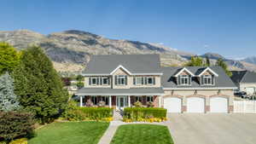
[[[55,118],[67,106],[68,93],[48,56],[37,46],[22,52],[13,72],[20,105],[42,122]]]

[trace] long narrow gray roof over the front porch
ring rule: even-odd
[[[111,88],[82,88],[76,95],[160,95],[164,94],[162,88],[131,88],[131,89],[111,89]]]

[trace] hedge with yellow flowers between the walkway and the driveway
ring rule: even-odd
[[[166,120],[167,110],[157,107],[126,107],[124,111],[124,119],[130,119],[131,121],[147,121],[154,118],[154,121]],[[129,121],[129,120],[127,120]]]

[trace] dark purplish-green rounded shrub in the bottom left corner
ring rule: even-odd
[[[34,120],[28,112],[0,112],[0,141],[29,137],[33,134]]]

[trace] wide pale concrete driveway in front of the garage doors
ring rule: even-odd
[[[255,144],[256,113],[168,114],[175,144]]]

